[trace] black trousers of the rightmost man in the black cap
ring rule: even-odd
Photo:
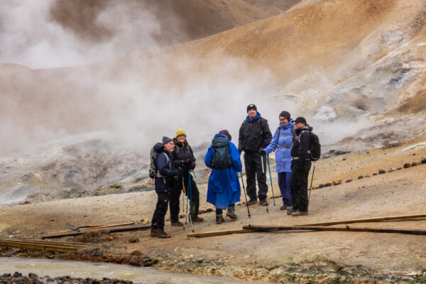
[[[290,179],[290,195],[293,200],[293,208],[307,212],[309,200],[307,199],[307,176],[309,175],[310,160],[293,160]]]

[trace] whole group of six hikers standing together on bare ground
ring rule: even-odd
[[[307,215],[307,177],[312,159],[312,127],[303,117],[293,120],[288,111],[281,111],[279,126],[272,135],[268,120],[257,111],[254,104],[247,107],[247,116],[239,129],[238,148],[232,143],[232,136],[227,130],[217,133],[209,147],[204,163],[212,169],[207,187],[207,202],[216,207],[216,223],[224,222],[226,217],[237,219],[235,204],[240,201],[242,180],[241,152],[244,151],[246,168],[246,206],[260,204],[268,206],[266,182],[266,163],[268,154],[275,152],[275,170],[278,173],[278,185],[283,198],[281,210],[297,217]],[[153,158],[154,157],[154,158]],[[187,196],[190,222],[203,222],[198,216],[200,192],[192,175],[195,168],[195,156],[187,142],[183,129],[178,129],[174,138],[163,137],[156,143],[151,153],[157,204],[151,223],[151,236],[169,238],[164,231],[165,214],[170,204],[170,222],[172,226],[183,226],[179,221],[180,195]],[[192,173],[191,173],[192,172]],[[271,173],[270,173],[271,174]],[[256,179],[258,192],[256,193]],[[271,181],[272,182],[272,181]]]

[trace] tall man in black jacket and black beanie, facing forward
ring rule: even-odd
[[[271,143],[272,133],[268,121],[261,117],[254,104],[247,107],[247,117],[239,130],[239,152],[244,151],[244,166],[246,167],[247,195],[250,197],[249,205],[257,203],[265,206],[266,193],[266,155],[259,150],[266,148]],[[256,195],[256,176],[258,180],[258,195]]]

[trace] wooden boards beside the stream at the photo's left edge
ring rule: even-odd
[[[68,253],[84,248],[87,244],[66,243],[60,241],[41,241],[36,239],[10,239],[0,238],[0,246],[9,248],[29,249],[35,251],[57,251]]]

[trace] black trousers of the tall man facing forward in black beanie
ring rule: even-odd
[[[266,155],[263,155],[263,168],[261,154],[244,152],[244,165],[246,167],[247,195],[250,198],[263,200],[268,193],[266,185]],[[256,195],[256,177],[258,180],[258,195]]]

